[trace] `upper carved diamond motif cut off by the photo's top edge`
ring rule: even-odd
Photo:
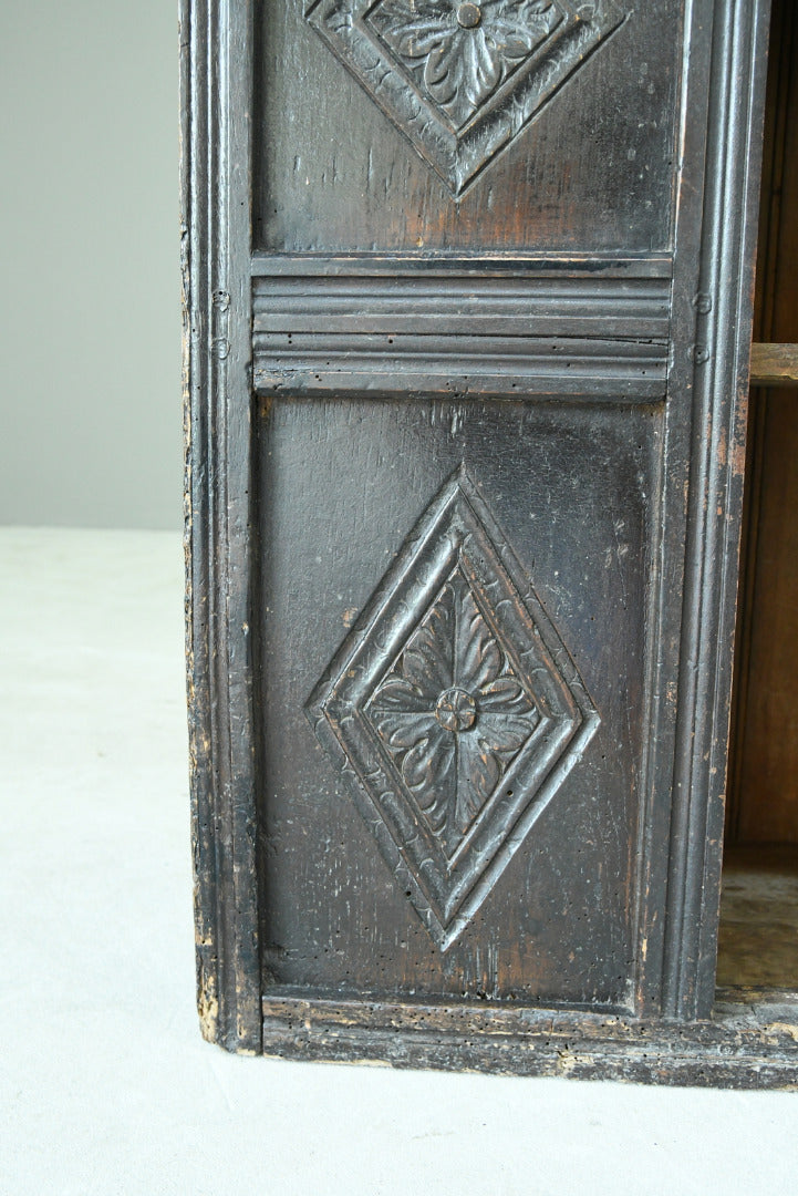
[[[306,17],[460,197],[626,13],[616,0],[313,0]]]

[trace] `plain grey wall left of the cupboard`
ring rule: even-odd
[[[174,0],[0,0],[0,523],[182,519]]]

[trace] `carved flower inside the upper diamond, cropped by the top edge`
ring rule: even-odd
[[[382,0],[369,19],[422,91],[461,129],[563,13],[553,0]]]

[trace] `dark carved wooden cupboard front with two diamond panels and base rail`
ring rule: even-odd
[[[794,1082],[710,1020],[766,8],[184,0],[229,1049]]]

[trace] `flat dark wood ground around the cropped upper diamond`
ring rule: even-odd
[[[350,12],[357,17],[369,7],[367,0],[321,5],[332,10],[333,25],[336,12],[345,23]],[[569,0],[548,7],[567,11],[572,22],[579,8],[602,5]],[[683,0],[612,0],[604,7],[626,19],[593,53],[576,48],[561,86],[507,148],[478,151],[490,165],[456,202],[386,115],[383,106],[397,102],[385,94],[385,63],[367,80],[373,98],[305,19],[305,10],[317,13],[317,6],[262,0],[256,5],[256,245],[280,252],[668,249]],[[406,0],[404,8],[412,18]],[[418,16],[429,11],[449,25],[456,67],[474,33],[491,35],[495,10],[511,17],[518,6],[492,0],[483,29],[473,31],[458,31],[453,10],[449,0],[425,0]],[[496,32],[499,42],[502,36]],[[419,42],[425,44],[421,35]],[[345,55],[340,44],[338,53]],[[560,53],[554,38],[552,59]],[[373,44],[361,57],[364,69],[380,61]],[[407,127],[418,123],[411,116],[423,106],[413,90],[418,61],[410,60],[404,74],[393,72],[412,105]],[[479,97],[479,84],[473,86]]]

